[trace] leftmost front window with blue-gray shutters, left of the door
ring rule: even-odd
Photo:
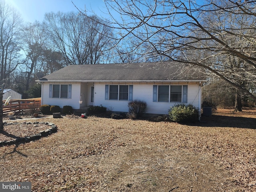
[[[72,85],[60,85],[50,84],[49,86],[49,97],[50,98],[69,98],[71,99],[71,87]]]

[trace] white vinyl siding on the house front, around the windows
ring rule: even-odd
[[[52,83],[57,84],[57,83]],[[71,84],[67,82],[66,84]],[[128,102],[130,96],[132,100],[142,100],[147,103],[146,113],[148,114],[168,114],[171,106],[178,104],[179,102],[153,102],[153,89],[154,83],[131,83],[129,84],[129,100],[105,100],[105,85],[108,83],[94,83],[94,106],[104,106],[113,112],[128,112]],[[119,83],[118,85],[127,85],[125,83]],[[162,85],[187,85],[186,96],[187,104],[192,104],[196,108],[200,105],[200,86],[199,83],[162,83]],[[65,105],[72,106],[73,109],[79,109],[80,106],[88,106],[90,98],[90,87],[93,83],[72,83],[72,98],[49,98],[50,84],[42,83],[42,104],[58,105],[63,108]],[[131,90],[130,90],[131,88]],[[184,92],[184,90],[183,90]],[[83,93],[83,94],[82,94]],[[80,105],[80,95],[82,94],[83,103]],[[184,93],[182,95],[184,98]]]

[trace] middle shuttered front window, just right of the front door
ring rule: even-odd
[[[106,85],[105,100],[132,100],[132,85]]]

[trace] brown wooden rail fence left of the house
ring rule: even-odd
[[[7,106],[4,106],[3,100],[3,114],[8,114],[9,112],[20,112],[22,110],[30,110],[39,108],[41,105],[41,98],[31,98],[31,99],[11,99]]]

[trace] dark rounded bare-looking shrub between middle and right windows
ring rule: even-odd
[[[140,100],[130,101],[128,103],[129,113],[127,114],[130,119],[137,119],[145,113],[147,108],[147,103]]]

